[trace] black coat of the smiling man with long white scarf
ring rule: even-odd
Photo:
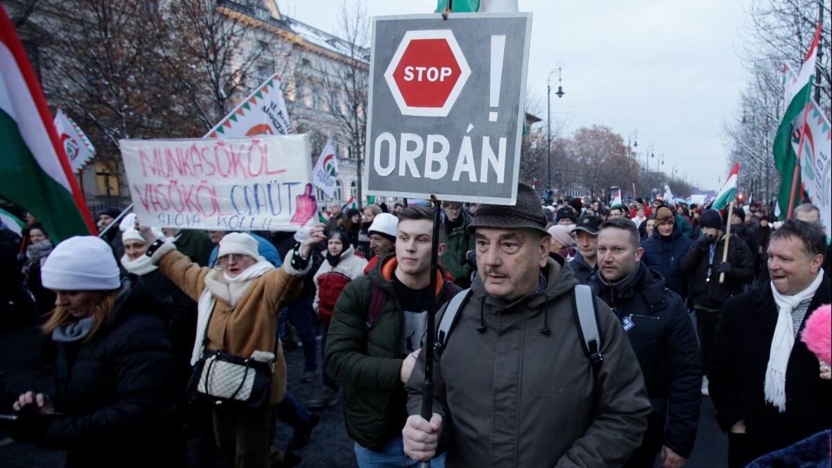
[[[825,276],[812,298],[800,332],[819,306],[832,300],[832,281]],[[777,306],[770,283],[726,301],[708,362],[708,390],[722,431],[745,420],[746,431],[766,441],[766,451],[832,426],[832,381],[818,376],[818,358],[800,340],[791,349],[785,378],[785,412],[765,403],[765,371],[777,326]],[[828,447],[828,446],[827,446]]]

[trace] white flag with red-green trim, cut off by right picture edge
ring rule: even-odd
[[[820,208],[820,222],[823,224],[826,238],[832,238],[832,179],[830,179],[830,147],[832,147],[832,128],[815,99],[806,106],[806,127],[803,140],[803,152],[800,154],[800,177],[809,199],[815,207]],[[800,141],[800,139],[797,139]],[[794,139],[793,139],[794,142]],[[799,144],[794,142],[795,144]]]

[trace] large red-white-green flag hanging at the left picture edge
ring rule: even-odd
[[[94,232],[46,99],[2,7],[0,141],[0,197],[32,212],[57,241]]]

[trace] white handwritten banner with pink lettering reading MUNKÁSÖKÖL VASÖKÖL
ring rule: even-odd
[[[308,135],[121,140],[139,222],[294,231],[317,211]]]

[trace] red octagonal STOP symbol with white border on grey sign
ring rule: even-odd
[[[405,32],[384,78],[406,116],[447,117],[471,75],[449,29]]]

